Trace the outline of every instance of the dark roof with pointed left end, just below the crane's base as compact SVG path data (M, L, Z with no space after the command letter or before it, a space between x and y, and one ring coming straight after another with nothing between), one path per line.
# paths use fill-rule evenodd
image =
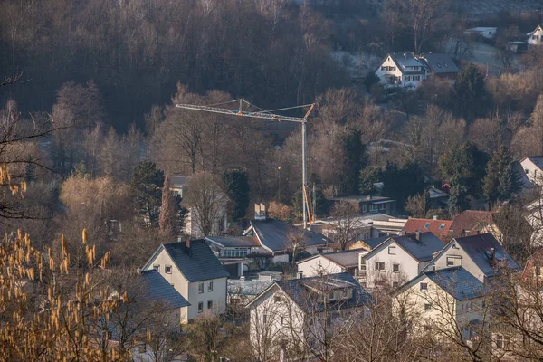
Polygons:
M294 225L275 219L251 220L252 229L262 246L272 252L281 252L292 247L291 238L302 236L303 246L317 246L332 243L320 233L302 230Z

